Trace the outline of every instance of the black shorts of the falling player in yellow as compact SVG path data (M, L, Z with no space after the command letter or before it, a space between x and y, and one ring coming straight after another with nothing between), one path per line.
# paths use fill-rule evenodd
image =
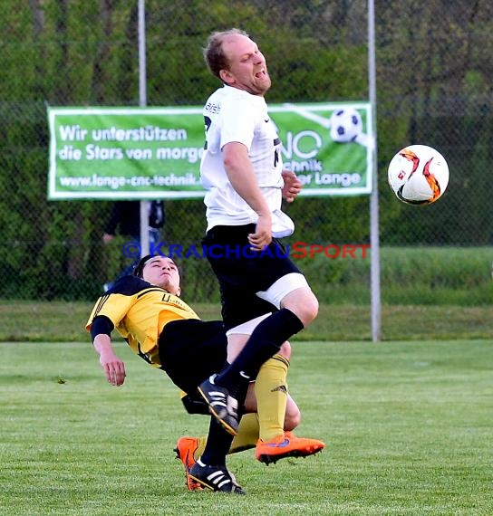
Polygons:
M173 320L160 334L161 368L190 395L198 384L221 371L227 360L227 338L220 320Z

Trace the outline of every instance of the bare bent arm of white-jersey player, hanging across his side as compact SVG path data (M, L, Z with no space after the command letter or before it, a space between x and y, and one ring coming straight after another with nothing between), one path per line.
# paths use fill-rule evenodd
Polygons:
M262 195L245 145L237 141L223 147L223 163L231 186L258 215L256 232L248 236L252 247L261 251L272 241L272 219Z

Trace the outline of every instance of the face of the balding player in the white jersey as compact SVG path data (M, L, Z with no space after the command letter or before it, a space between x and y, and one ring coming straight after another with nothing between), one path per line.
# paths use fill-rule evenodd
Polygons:
M228 70L221 70L221 79L228 86L248 91L252 95L264 95L270 88L266 58L256 43L242 34L231 34L223 41L223 51L229 63Z

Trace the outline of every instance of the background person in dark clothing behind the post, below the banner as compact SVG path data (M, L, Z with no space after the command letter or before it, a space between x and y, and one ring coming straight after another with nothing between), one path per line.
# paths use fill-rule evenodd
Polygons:
M162 201L151 201L149 208L149 244L159 244L161 239L161 229L164 226L164 205ZM140 201L116 201L111 210L110 220L104 228L102 241L109 244L116 234L128 237L129 242L140 244ZM118 274L112 281L104 283L103 290L108 291L114 282L122 276L133 272L140 256L128 267Z

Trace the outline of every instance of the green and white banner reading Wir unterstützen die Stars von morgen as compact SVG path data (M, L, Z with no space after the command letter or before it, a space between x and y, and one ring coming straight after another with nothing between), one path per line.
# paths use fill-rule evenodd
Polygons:
M369 103L269 106L303 196L369 194ZM48 108L49 199L203 197L202 107Z

